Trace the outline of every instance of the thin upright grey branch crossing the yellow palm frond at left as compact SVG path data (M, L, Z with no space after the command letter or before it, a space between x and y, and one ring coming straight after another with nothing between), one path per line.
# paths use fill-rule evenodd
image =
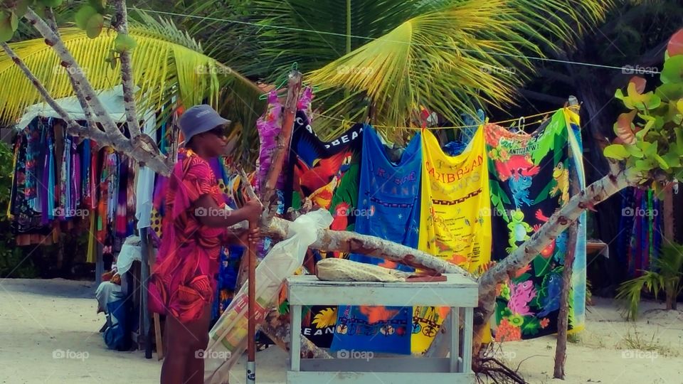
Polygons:
M126 8L125 0L116 1L116 20L118 33L128 34L128 9ZM133 81L133 67L132 67L132 53L129 49L123 50L120 53L121 59L121 84L123 85L123 105L126 110L126 122L128 123L128 131L130 137L134 139L138 137L140 132L140 123L137 119L137 111L135 108L135 84Z

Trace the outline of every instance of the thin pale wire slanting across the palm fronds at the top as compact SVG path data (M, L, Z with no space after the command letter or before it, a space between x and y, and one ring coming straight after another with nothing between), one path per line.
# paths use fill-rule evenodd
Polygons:
M130 9L134 9L136 11L150 12L153 14L164 14L164 15L169 15L169 16L182 16L182 17L189 17L189 18L201 18L202 20L211 20L211 21L225 21L226 23L243 24L243 25L247 25L247 26L258 26L259 28L284 29L287 31L318 33L320 35L329 35L329 36L341 36L341 37L350 36L352 38L360 38L360 39L369 40L369 41L375 41L378 39L378 38L371 38L369 36L346 35L345 33L315 31L314 29L294 28L294 27L287 27L287 26L272 26L272 25L265 25L265 24L258 24L258 23L250 23L249 21L230 20L228 18L215 18L215 17L210 17L210 16L197 16L197 15L179 14L176 12L155 11L153 9L139 9L137 7L134 7L134 6L130 7ZM420 43L412 43L412 42L405 42L405 41L393 41L393 40L387 40L387 42L388 43L407 44L408 46L423 46L423 47L428 47L428 48L458 49L462 52L473 52L473 53L479 52L478 50L472 50L472 49L466 49L466 48L454 48L454 47L449 47L449 46L438 46L438 45L433 45L433 44L420 44ZM561 60L561 59L554 59L554 58L539 58L536 56L514 55L512 53L500 53L500 52L494 52L494 51L484 51L484 52L489 54L489 55L508 56L511 58L524 58L524 59L528 59L528 60L550 61L550 62L554 62L554 63L563 63L563 64L584 65L586 67L613 69L613 70L620 70L622 72L624 72L625 70L630 70L632 73L637 72L638 74L649 74L649 75L660 74L660 72L656 71L656 70L645 70L642 68L630 68L628 66L616 67L614 65L583 63L581 61Z

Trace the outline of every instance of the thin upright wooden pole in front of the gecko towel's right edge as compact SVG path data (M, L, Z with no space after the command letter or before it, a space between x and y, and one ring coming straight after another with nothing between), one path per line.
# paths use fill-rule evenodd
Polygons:
M569 105L578 105L576 97L569 97ZM571 127L567 127L571 129ZM572 134L568 132L568 134ZM570 147L571 148L571 147ZM573 154L571 149L569 151L569 161L573 159L581 161L582 154ZM570 166L569 173L569 196L578 195L581 192L581 186L578 182L578 169L576 166ZM567 229L567 252L564 257L564 270L562 273L562 291L560 294L560 312L557 318L557 346L555 347L555 367L553 377L564 380L564 363L567 356L567 330L569 325L569 291L571 289L571 272L574 264L574 257L576 253L576 237L578 235L578 220Z

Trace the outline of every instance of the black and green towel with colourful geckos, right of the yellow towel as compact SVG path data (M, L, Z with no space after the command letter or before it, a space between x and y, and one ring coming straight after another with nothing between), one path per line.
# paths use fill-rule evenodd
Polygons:
M492 233L498 240L493 245L493 260L514 252L569 200L568 128L562 110L533 134L513 134L494 124L485 126ZM566 248L565 232L501 284L495 311L497 341L557 331ZM573 323L570 307L570 327Z

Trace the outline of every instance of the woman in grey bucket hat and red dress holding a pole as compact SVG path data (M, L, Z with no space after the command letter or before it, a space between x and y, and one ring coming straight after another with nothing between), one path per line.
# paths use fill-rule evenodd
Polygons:
M221 246L240 242L226 228L258 220L262 211L255 201L228 210L208 164L226 150L228 123L208 105L191 107L180 119L186 157L169 178L162 245L149 284L152 310L166 314L162 384L203 383ZM253 244L258 235L248 233L248 241Z

